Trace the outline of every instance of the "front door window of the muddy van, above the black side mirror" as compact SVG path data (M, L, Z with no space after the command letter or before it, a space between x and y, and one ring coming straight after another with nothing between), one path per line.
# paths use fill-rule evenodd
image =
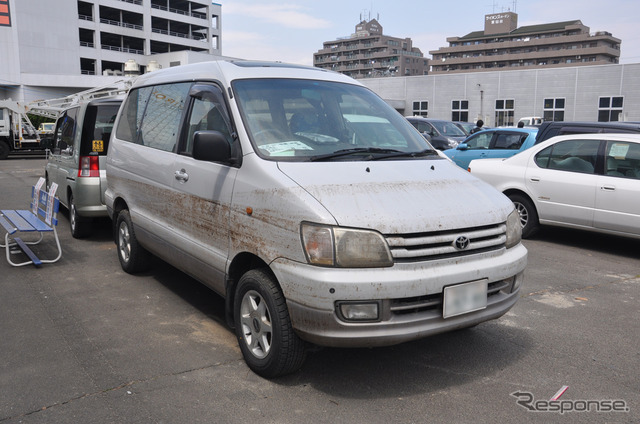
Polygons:
M193 135L198 131L218 131L231 145L233 131L224 104L220 88L211 84L196 84L191 88L191 104L188 123L188 133L180 153L193 153Z

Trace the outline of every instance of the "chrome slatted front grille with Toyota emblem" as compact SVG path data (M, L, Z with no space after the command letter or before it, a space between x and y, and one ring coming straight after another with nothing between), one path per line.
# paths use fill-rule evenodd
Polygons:
M507 226L502 224L449 231L387 234L395 262L418 262L472 255L504 248Z

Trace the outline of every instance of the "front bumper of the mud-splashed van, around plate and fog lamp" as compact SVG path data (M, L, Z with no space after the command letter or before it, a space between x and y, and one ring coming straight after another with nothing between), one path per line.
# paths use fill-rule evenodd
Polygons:
M499 318L518 299L526 257L526 249L519 244L492 254L391 268L329 269L279 260L272 269L287 299L292 325L302 339L321 346L373 347ZM444 287L479 280L488 283L486 308L444 318ZM368 301L378 304L377 320L356 322L341 317L340 302Z

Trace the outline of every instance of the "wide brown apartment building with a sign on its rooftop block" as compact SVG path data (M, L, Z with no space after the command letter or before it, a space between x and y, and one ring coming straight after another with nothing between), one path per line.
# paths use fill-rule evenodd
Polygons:
M447 42L429 52L429 73L616 64L621 43L609 32L591 33L579 20L518 27L514 12L486 15L483 31Z

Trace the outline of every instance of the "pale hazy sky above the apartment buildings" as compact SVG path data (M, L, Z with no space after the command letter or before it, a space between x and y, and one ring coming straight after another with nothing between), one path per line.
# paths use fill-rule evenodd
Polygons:
M312 65L322 43L377 19L383 33L411 38L425 57L448 37L484 30L484 16L518 14L518 27L580 20L622 40L620 63L640 63L638 0L214 0L222 4L222 54Z

